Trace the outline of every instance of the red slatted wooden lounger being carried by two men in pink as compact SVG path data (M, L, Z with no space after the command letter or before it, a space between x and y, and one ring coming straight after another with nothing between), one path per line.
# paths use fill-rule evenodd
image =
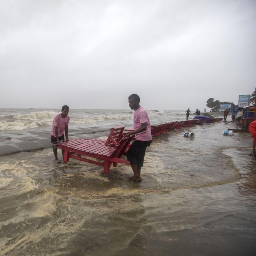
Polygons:
M109 173L109 168L118 163L130 165L129 161L120 159L124 151L130 144L132 137L128 140L121 140L124 137L124 127L114 127L110 130L107 140L100 139L73 139L58 145L58 148L64 149L64 162L69 158L89 162L104 167L104 174ZM102 160L101 162L89 158Z

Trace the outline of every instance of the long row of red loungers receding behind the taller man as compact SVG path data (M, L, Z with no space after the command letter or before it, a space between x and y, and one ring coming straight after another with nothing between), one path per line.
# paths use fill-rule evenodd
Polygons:
M179 129L182 127L191 127L196 124L202 124L204 122L203 119L193 119L188 121L175 121L166 124L159 124L156 126L151 126L151 134L152 136L158 136L160 134L170 132L171 130Z

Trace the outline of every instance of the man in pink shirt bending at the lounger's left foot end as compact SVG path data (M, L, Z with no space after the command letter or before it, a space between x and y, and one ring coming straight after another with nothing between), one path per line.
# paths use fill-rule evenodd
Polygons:
M69 112L69 107L67 105L64 105L62 107L61 113L56 114L53 118L51 142L53 146L53 153L56 160L58 160L56 145L59 145L60 143L65 141L64 132L65 132L66 141L69 141L68 140L68 122L70 120L70 117L68 116L68 112ZM61 152L62 152L62 157L64 159L64 150L62 149Z

